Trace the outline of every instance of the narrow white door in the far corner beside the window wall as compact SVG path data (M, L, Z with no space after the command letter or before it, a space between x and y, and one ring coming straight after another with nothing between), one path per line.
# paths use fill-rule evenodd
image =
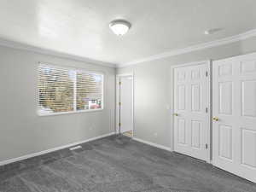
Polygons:
M119 85L119 122L120 132L133 130L133 77L120 76Z

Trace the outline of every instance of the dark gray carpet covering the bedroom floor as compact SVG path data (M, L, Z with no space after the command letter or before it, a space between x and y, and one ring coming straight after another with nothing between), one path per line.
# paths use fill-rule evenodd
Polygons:
M199 160L107 137L0 167L1 192L255 192L256 185Z

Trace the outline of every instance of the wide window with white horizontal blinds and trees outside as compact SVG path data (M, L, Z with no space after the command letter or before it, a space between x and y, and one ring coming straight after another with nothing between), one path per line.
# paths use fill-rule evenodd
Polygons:
M44 64L38 74L39 115L102 109L102 74Z

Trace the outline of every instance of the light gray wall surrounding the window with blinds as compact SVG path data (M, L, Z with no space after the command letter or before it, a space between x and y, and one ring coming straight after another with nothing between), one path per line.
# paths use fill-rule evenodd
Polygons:
M104 110L39 117L38 61L105 73ZM0 161L114 131L115 69L0 46Z

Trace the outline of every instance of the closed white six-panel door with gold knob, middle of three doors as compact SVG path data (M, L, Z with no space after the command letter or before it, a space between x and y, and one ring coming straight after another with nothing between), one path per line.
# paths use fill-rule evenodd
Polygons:
M174 150L210 160L210 62L174 68Z

